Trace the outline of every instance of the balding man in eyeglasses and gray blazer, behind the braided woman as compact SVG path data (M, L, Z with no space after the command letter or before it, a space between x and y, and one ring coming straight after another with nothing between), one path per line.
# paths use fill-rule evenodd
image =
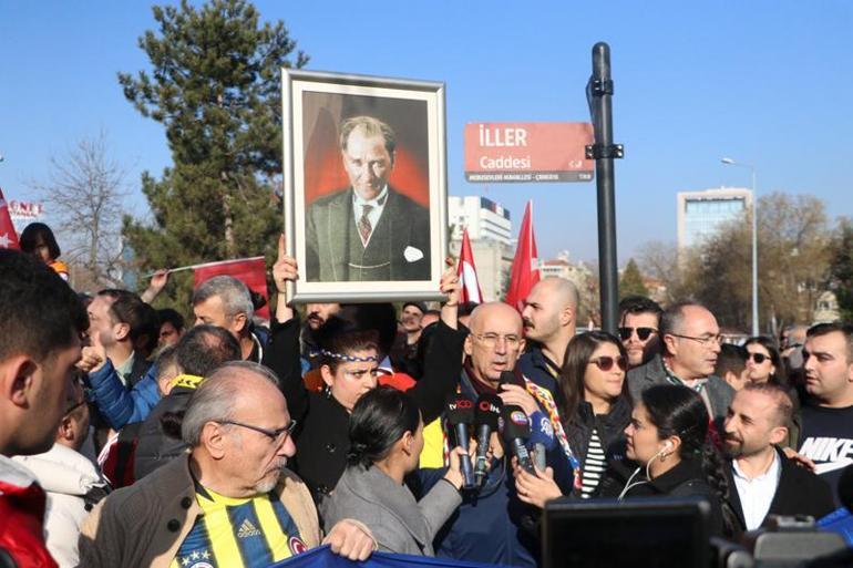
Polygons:
M717 318L697 302L669 306L660 317L662 352L648 363L628 371L628 388L637 401L643 391L655 384L682 384L697 391L708 407L719 440L722 421L734 396L734 390L713 369L722 337Z

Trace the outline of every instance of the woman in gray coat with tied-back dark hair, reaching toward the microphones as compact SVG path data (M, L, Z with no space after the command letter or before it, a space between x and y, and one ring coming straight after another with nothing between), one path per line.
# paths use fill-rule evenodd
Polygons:
M450 467L420 502L403 483L418 467L423 421L414 400L390 386L362 394L349 423L348 467L323 502L327 527L352 518L370 528L380 550L434 556L435 533L462 503L458 447Z

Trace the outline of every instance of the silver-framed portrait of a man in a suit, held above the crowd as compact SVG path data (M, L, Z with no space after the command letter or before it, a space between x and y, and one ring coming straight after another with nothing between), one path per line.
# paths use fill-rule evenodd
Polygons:
M284 69L282 105L288 296L440 299L444 84Z

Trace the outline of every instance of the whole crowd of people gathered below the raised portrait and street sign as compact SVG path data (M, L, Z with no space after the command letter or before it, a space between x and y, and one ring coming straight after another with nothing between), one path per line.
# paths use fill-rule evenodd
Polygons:
M189 326L152 307L167 270L79 293L28 230L0 250L0 566L261 567L329 544L533 567L553 499L701 496L733 541L840 506L851 324L736 345L697 302L628 297L617 334L578 332L571 281L521 312L470 304L450 259L438 309L295 306L282 237L270 321L219 276Z

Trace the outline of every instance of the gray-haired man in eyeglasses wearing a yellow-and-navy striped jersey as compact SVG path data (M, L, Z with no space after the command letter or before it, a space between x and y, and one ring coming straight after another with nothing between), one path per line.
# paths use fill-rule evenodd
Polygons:
M195 391L182 455L96 506L80 538L81 566L267 567L319 546L317 509L287 469L295 422L267 369L235 361ZM325 543L352 560L370 531L341 520Z

